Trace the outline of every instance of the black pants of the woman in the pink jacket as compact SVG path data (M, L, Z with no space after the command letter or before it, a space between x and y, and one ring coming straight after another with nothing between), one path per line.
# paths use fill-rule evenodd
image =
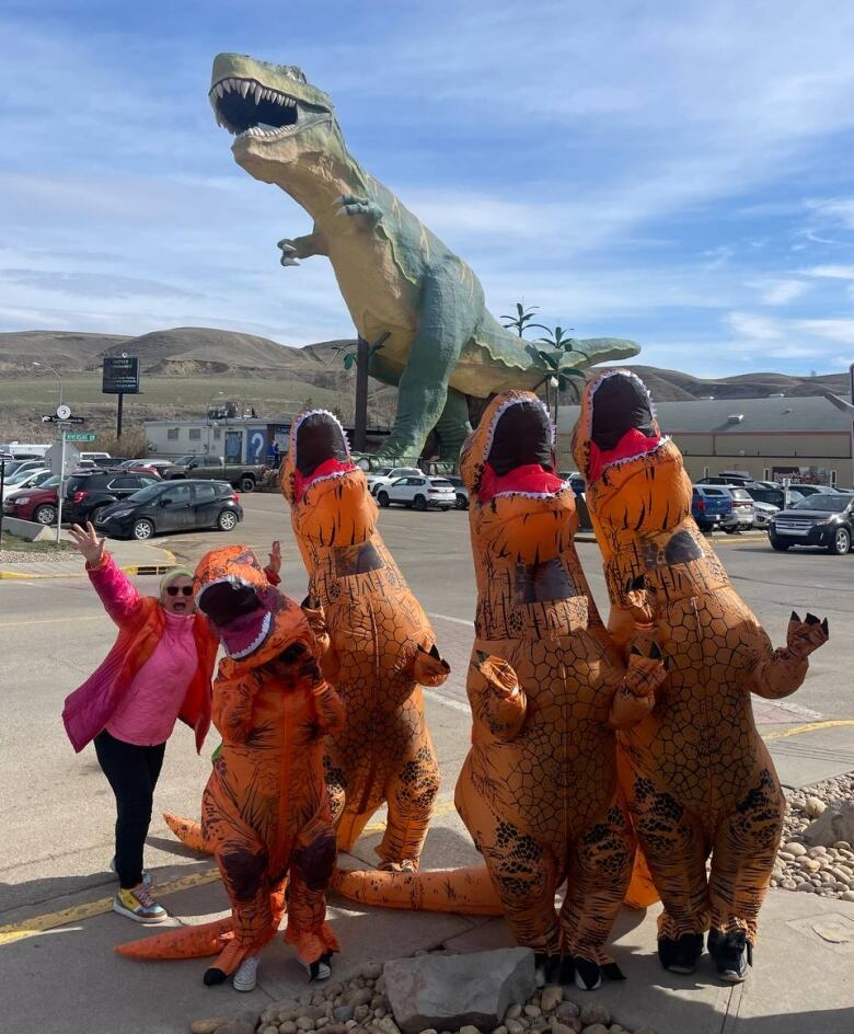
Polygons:
M95 736L99 765L116 795L116 872L124 889L142 881L142 848L165 751L164 743L137 747L106 729Z

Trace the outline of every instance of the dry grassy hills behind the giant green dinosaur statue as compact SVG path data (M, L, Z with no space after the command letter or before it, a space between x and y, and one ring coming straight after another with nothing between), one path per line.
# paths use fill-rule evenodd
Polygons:
M344 351L351 341L328 341L305 348L279 345L265 337L233 331L181 326L139 337L65 331L23 331L0 334L0 440L46 438L42 414L57 404L57 380L49 363L62 375L64 397L88 420L86 429L109 434L115 427L116 399L101 393L105 355L136 355L142 371L139 395L125 398L125 426L145 420L203 415L210 402L240 400L269 416L299 413L307 404L335 409L353 418L355 374L344 369ZM699 399L755 398L783 392L816 395L847 393L847 376L813 378L785 374L745 374L702 380L678 370L635 366L658 402ZM395 391L370 381L369 420L393 420ZM567 399L567 401L572 401Z

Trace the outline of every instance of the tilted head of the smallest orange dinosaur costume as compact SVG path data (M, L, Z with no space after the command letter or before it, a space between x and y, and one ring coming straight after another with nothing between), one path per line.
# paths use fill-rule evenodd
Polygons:
M257 667L295 642L311 644L299 607L267 582L246 545L210 550L196 566L196 606L231 660Z

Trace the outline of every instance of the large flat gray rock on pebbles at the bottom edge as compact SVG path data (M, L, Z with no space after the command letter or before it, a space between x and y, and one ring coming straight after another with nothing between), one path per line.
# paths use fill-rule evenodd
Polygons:
M403 1034L432 1027L455 1031L471 1024L492 1031L508 1006L536 990L534 956L528 947L469 955L418 955L385 963L385 993Z

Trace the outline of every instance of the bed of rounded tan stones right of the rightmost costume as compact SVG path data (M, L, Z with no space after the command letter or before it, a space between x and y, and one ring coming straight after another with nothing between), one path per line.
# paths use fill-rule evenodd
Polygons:
M772 887L854 901L854 772L786 793Z

